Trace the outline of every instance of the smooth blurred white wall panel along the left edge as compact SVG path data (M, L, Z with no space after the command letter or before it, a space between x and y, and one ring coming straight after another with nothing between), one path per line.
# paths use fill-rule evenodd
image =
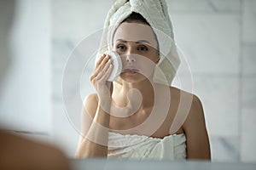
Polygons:
M14 5L6 42L9 68L1 82L0 124L13 130L50 133L51 3L19 0ZM5 5L2 8L9 10Z

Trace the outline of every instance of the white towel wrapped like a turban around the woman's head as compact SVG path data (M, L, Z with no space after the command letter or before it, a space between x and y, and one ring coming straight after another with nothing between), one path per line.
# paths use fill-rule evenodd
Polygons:
M117 0L105 20L99 54L113 50L113 33L132 12L148 21L159 42L160 61L155 66L153 81L171 86L180 59L165 0ZM116 82L121 83L119 79Z

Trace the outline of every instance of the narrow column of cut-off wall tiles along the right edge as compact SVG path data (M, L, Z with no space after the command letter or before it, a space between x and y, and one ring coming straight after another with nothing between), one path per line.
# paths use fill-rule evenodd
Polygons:
M242 1L241 161L256 161L256 1Z

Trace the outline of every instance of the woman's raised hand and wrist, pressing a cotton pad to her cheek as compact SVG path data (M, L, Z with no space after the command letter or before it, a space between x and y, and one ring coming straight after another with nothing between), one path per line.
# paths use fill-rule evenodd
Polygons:
M108 82L107 80L112 70L113 65L110 56L102 54L102 57L96 63L95 71L90 76L90 82L96 89L100 104L111 101L113 82Z

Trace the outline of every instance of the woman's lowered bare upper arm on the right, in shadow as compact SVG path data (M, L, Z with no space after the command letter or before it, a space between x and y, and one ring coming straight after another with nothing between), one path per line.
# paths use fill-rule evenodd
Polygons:
M187 138L187 158L211 160L211 150L207 134L201 100L193 95L189 116L183 123Z

